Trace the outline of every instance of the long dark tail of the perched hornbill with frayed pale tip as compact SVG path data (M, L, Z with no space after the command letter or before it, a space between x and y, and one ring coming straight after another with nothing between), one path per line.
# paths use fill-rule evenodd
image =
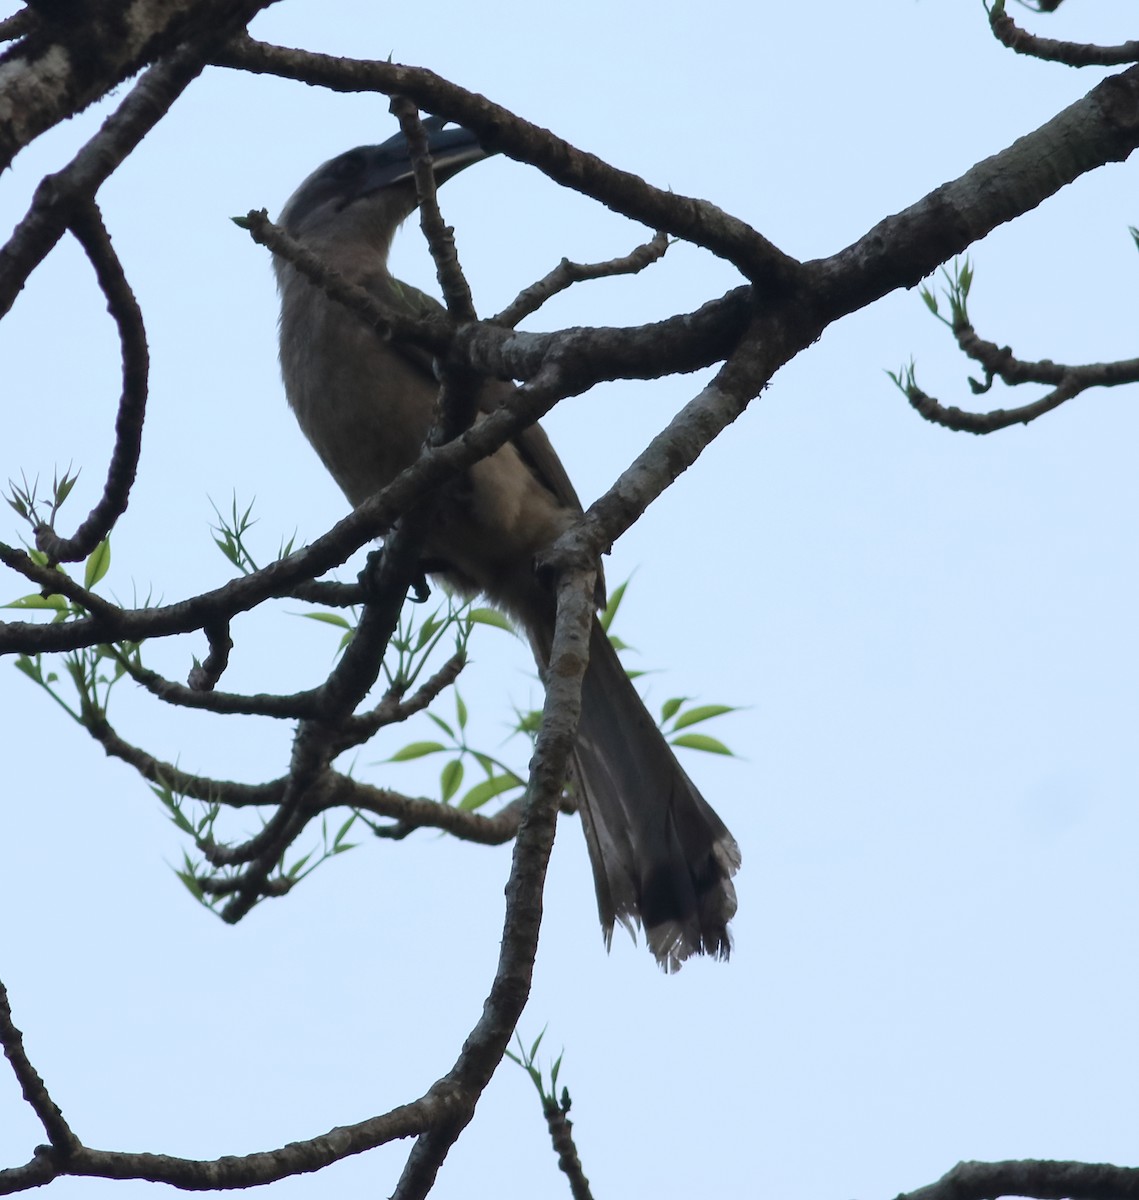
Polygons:
M739 847L681 769L594 618L574 768L606 943L640 924L665 971L726 959Z

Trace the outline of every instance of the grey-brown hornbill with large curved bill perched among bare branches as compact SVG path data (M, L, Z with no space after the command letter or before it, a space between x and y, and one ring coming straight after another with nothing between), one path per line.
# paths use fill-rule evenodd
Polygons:
M436 184L490 156L474 133L422 121ZM438 301L388 269L392 239L418 208L409 145L397 133L348 150L305 179L278 226L325 266L409 316ZM298 422L348 502L360 505L422 450L438 379L431 355L385 337L274 256L281 299L280 361ZM479 385L493 412L515 391ZM485 595L528 637L542 672L553 640L554 589L535 558L582 511L569 475L532 425L440 490L422 562L466 596ZM598 575L598 604L604 580ZM640 926L658 964L676 971L694 954L727 959L736 912L736 839L677 762L594 616L582 680L570 791L589 850L606 947L619 922Z

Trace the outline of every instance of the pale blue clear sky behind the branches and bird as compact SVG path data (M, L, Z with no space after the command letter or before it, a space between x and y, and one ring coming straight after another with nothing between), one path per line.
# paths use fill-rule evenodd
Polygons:
M1135 36L1133 0L1013 14L1049 36ZM979 2L936 0L442 0L430 18L286 0L252 31L431 67L801 258L840 250L1103 76L1015 56ZM108 593L173 601L224 582L211 502L256 499L265 559L343 515L284 403L268 254L229 217L278 211L322 161L388 137L386 103L209 71L101 192L152 355ZM19 156L0 229L109 107ZM505 160L442 203L482 313L563 254L605 259L646 236ZM996 230L971 251L981 334L1025 358L1133 355L1128 224L1123 164ZM394 268L432 286L413 226ZM675 246L528 328L636 324L737 282ZM606 955L583 840L574 820L559 829L521 1031L547 1027L544 1050L564 1048L559 1086L598 1196L869 1200L959 1159L1139 1158L1137 394L973 438L928 425L893 388L885 371L911 355L928 391L972 402L948 332L916 293L888 296L781 371L606 564L611 582L634 577L619 632L630 665L653 672L651 704L741 706L708 727L737 757L684 763L744 863L731 962L665 978L623 936ZM73 242L0 323L0 478L82 466L70 532L102 487L119 396L114 328ZM707 377L606 385L551 414L587 503ZM23 533L0 515L2 540ZM26 590L11 578L0 599ZM223 686L318 682L336 635L301 610L236 622ZM203 653L182 638L148 661L185 679ZM462 691L478 734L524 763L506 736L511 706L538 698L528 653L486 631L473 658ZM0 708L0 978L86 1144L270 1148L385 1111L450 1067L492 978L509 848L368 841L229 928L174 877L181 842L145 784L11 666ZM110 718L188 770L257 781L287 762L287 727L163 710L126 685ZM391 731L356 774L430 793L436 766L382 763L422 736ZM0 1072L0 1165L41 1140ZM386 1195L406 1153L275 1193ZM52 1184L83 1200L157 1190ZM536 1096L504 1063L433 1195L564 1194Z

